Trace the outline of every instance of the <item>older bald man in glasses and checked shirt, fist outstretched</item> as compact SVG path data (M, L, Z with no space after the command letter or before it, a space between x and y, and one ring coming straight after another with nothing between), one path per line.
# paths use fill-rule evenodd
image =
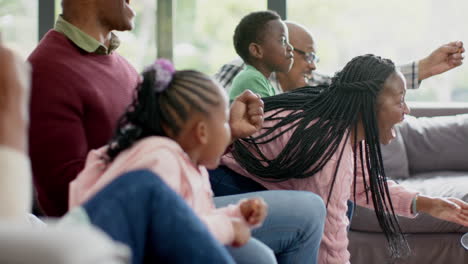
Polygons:
M289 31L289 41L294 47L294 64L287 74L273 73L270 76L273 87L278 92L285 92L308 85L329 83L330 76L316 72L319 58L310 31L295 22L285 23ZM460 66L464 51L461 41L450 42L440 46L424 59L401 65L399 70L406 77L408 89L417 89L422 80ZM215 74L215 79L228 90L243 66L240 58L235 59L223 65Z

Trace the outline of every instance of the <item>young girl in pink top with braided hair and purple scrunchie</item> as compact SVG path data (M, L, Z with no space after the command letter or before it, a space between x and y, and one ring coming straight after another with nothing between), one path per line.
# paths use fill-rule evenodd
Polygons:
M124 114L110 144L88 155L84 170L70 185L70 208L82 204L122 173L149 169L180 194L225 245L242 246L250 229L266 216L262 199L241 200L216 209L206 167L218 165L231 143L233 118L222 88L196 71L175 71L158 60L143 73L133 104ZM233 130L252 134L262 123L262 101L240 113ZM234 113L236 114L236 113ZM250 116L242 122L242 117ZM234 120L235 121L235 120ZM236 132L237 131L237 132ZM244 136L245 136L244 135ZM249 242L262 255L266 246ZM265 262L275 262L271 250Z

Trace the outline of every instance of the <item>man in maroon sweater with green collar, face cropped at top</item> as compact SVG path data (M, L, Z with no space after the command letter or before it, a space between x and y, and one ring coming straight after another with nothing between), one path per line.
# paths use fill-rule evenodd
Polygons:
M63 0L63 14L28 58L33 68L30 156L39 205L67 210L68 184L111 138L139 76L114 50L133 28L129 0Z

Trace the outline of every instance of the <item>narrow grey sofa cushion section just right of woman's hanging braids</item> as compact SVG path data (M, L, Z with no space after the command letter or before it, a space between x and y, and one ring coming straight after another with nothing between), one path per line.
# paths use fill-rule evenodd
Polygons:
M381 145L385 175L392 179L409 177L408 157L400 126L395 126L396 138L388 145Z

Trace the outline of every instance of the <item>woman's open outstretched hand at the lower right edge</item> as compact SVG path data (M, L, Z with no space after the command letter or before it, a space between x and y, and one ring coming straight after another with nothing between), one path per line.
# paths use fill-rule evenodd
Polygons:
M468 203L460 199L419 195L416 208L433 217L468 226Z

